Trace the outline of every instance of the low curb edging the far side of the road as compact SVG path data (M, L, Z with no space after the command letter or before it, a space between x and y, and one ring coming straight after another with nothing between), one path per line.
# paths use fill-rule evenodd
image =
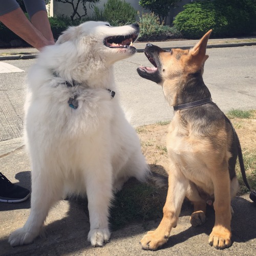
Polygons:
M170 41L171 42L171 41ZM146 42L145 42L146 44ZM154 44L154 43L153 43ZM155 42L157 45L157 42ZM210 48L225 48L225 47L241 47L241 46L256 46L256 42L236 42L236 43L230 43L230 44L216 44L216 45L207 45L207 49ZM179 48L179 49L190 49L192 48L192 45L189 46L175 46L172 48ZM161 47L164 50L169 50L170 47ZM137 48L137 52L141 53L144 52L144 48ZM17 59L34 59L36 58L37 54L17 54L17 55L6 55L6 56L0 56L0 60L17 60Z

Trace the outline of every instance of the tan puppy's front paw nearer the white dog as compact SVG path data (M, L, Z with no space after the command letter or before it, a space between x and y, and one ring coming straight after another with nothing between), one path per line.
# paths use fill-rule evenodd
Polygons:
M155 231L148 231L141 239L140 243L144 250L156 250L158 247L165 244L168 239L169 236L165 236L156 229Z

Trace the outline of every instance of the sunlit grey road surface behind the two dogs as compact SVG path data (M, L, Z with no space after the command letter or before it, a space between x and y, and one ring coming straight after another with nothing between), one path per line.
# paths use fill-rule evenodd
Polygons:
M204 81L220 108L224 112L256 109L256 46L207 49L207 54ZM25 72L0 74L0 141L22 136L25 78L34 61L4 61ZM137 74L140 65L151 66L143 53L115 64L118 93L131 123L138 126L172 119L173 110L161 87Z

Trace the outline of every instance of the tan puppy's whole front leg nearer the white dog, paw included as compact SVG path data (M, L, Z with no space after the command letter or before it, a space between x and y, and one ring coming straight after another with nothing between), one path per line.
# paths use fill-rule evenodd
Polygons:
M172 164L170 169L172 172L168 177L169 186L163 207L163 219L156 230L148 231L140 241L142 248L146 250L156 250L165 244L169 239L170 230L177 226L189 181L175 164Z

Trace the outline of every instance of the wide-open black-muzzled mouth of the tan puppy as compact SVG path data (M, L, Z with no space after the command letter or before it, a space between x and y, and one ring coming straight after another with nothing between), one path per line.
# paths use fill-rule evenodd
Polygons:
M161 62L159 60L159 53L162 51L164 50L158 46L146 44L144 53L154 67L150 68L141 66L137 68L137 72L141 77L156 83L161 82L162 78L159 72L159 70L161 69Z

